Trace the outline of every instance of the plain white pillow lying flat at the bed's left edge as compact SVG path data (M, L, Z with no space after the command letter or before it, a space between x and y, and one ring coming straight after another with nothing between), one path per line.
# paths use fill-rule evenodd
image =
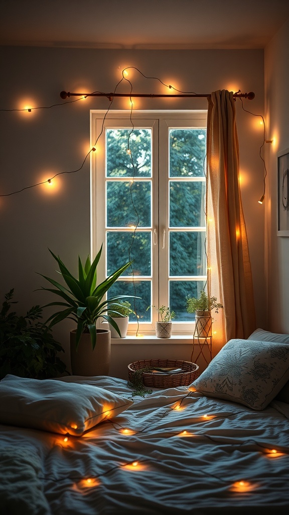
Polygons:
M133 404L97 386L8 374L0 381L0 422L81 436Z

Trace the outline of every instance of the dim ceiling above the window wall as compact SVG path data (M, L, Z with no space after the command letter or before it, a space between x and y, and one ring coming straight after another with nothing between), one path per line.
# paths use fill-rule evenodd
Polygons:
M288 17L288 0L1 0L0 44L264 48Z

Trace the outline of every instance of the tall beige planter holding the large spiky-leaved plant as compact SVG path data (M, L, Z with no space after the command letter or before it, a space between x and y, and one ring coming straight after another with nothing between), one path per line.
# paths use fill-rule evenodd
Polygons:
M70 361L73 375L108 375L111 362L111 332L97 329L96 346L92 349L91 335L81 336L76 350L76 330L70 331Z

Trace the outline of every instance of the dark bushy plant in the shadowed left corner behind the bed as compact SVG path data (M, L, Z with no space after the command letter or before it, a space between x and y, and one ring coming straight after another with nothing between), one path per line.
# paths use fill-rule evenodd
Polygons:
M33 379L47 379L67 372L65 364L57 356L64 352L53 339L51 330L39 320L42 308L31 307L25 316L10 312L14 288L5 295L0 312L0 379L6 374Z

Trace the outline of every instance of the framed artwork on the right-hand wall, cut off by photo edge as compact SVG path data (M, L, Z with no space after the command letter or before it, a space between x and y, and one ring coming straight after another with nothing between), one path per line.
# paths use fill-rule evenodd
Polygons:
M289 236L289 148L277 153L278 236Z

